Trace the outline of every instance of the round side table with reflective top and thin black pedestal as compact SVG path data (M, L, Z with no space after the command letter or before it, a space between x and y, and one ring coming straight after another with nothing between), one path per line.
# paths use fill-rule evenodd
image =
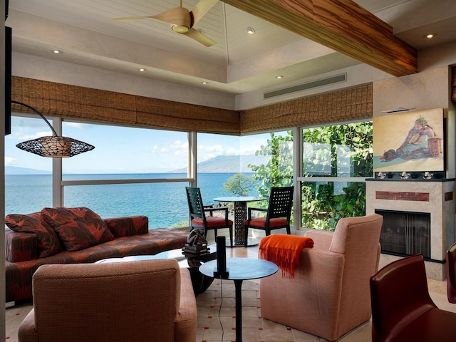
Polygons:
M199 266L204 276L214 277L217 260L208 261ZM236 342L242 342L242 281L259 279L276 273L279 267L274 262L253 258L227 259L228 277L234 281L234 296L236 301Z

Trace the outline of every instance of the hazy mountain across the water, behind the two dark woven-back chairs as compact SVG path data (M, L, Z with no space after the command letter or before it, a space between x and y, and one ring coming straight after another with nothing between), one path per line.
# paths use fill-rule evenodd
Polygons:
M252 172L248 167L249 164L261 165L266 163L264 155L219 155L204 162L198 163L198 172L203 173L234 173L234 172ZM187 169L174 170L172 172L187 172Z

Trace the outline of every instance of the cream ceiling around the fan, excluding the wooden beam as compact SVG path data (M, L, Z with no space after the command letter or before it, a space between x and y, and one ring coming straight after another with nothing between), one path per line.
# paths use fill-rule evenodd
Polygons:
M393 26L393 33L417 49L456 41L454 0L355 0ZM184 0L192 9L197 0ZM179 6L179 0L9 0L7 26L13 49L122 73L246 93L278 86L360 62L336 53L218 1L195 28L217 42L205 47L174 33L150 16ZM248 35L246 28L256 33ZM426 33L437 33L426 40ZM52 50L63 51L53 54ZM281 81L276 75L284 76ZM208 81L206 86L202 81Z

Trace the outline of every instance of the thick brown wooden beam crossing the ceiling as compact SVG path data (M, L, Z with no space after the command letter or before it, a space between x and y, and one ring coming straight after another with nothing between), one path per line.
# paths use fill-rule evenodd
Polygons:
M415 48L351 0L222 0L393 76L418 72Z

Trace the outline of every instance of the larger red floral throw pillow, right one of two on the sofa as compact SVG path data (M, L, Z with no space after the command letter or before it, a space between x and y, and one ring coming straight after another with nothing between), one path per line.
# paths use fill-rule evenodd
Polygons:
M103 219L86 207L43 208L41 214L67 251L78 251L114 239Z

